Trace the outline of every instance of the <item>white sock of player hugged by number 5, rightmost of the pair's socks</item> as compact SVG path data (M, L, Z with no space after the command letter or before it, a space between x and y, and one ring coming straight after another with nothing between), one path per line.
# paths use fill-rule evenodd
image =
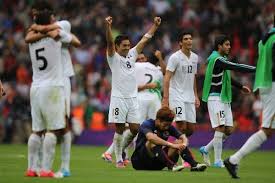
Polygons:
M72 134L68 131L61 142L61 169L70 171Z

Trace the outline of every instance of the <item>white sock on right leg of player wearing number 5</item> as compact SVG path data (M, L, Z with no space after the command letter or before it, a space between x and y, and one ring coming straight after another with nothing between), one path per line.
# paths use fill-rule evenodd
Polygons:
M50 171L53 164L56 145L56 136L53 133L47 132L43 142L43 160L42 170Z

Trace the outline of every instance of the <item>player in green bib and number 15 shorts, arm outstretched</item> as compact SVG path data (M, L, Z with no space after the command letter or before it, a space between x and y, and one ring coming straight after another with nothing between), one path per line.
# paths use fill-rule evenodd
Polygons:
M205 163L210 166L209 150L214 147L214 167L224 167L222 156L223 139L233 131L233 117L231 111L231 85L240 89L242 93L251 93L247 86L231 79L230 70L238 72L255 72L255 67L245 64L236 64L227 56L230 52L230 40L225 35L217 36L214 51L207 59L207 69L203 84L202 100L207 102L211 126L215 130L214 138L200 148Z

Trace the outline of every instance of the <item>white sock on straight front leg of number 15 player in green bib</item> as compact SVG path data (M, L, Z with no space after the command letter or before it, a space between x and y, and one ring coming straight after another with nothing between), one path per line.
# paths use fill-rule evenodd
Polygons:
M215 162L222 161L222 141L224 133L215 131L213 138Z

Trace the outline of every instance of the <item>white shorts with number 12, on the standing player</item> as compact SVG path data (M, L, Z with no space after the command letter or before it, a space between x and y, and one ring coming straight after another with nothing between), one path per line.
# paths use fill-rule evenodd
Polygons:
M175 121L186 121L196 123L196 108L195 103L169 100L170 108L175 112Z

